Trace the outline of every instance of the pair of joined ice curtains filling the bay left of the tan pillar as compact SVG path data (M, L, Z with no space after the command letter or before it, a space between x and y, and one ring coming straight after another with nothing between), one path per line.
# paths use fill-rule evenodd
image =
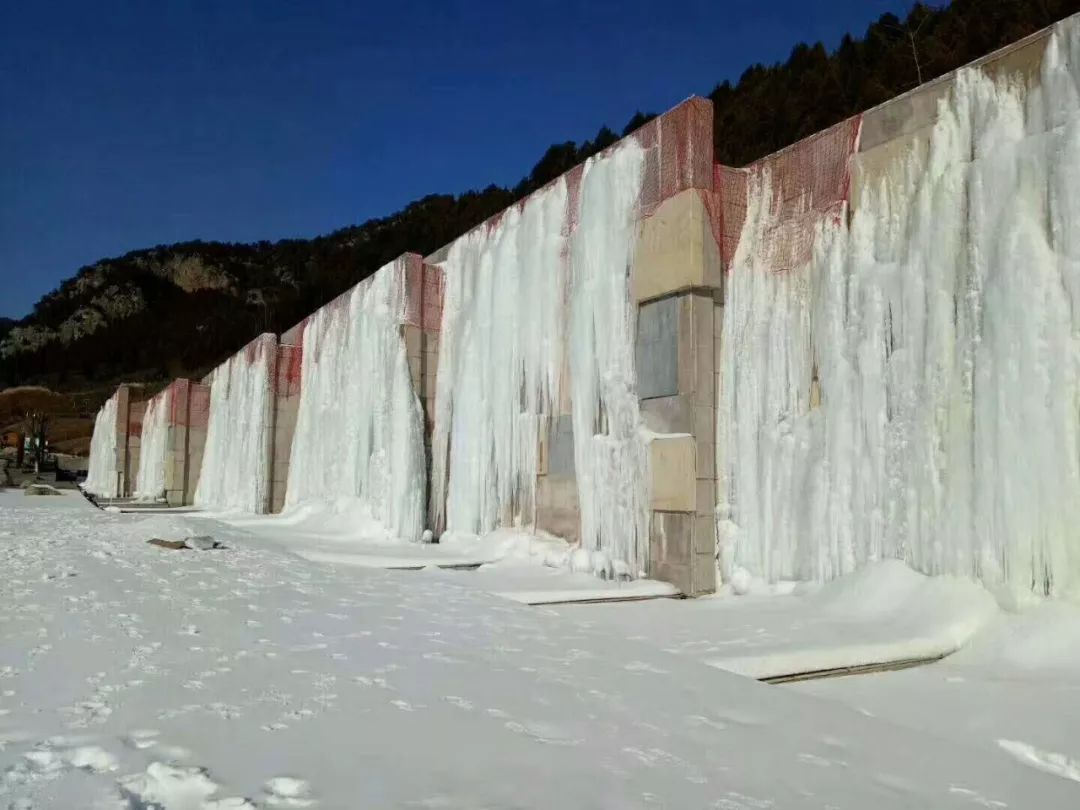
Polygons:
M561 178L450 247L432 450L448 529L535 519L541 426L569 384L582 543L644 569L629 294L643 158L625 141L585 165L577 193Z

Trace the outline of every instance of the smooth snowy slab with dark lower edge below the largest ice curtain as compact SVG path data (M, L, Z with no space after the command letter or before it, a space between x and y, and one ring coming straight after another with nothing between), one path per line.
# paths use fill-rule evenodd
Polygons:
M980 585L926 577L899 561L785 595L596 606L589 621L754 678L935 658L997 615Z

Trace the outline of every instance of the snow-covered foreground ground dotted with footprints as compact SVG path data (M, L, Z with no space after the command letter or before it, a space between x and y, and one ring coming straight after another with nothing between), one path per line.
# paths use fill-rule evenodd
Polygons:
M145 542L204 532L229 548ZM706 603L530 608L468 572L315 563L77 496L0 495L0 806L1080 806L1077 724L1056 702L1075 697L1068 667L1056 691L994 693L1035 715L998 743L899 705L867 716L870 697L766 686L595 612L638 623ZM1029 665L1028 637L1011 649Z

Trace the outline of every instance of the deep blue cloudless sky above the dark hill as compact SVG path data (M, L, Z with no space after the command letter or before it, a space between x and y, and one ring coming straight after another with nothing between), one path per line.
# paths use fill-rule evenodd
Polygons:
M902 0L6 2L0 315L98 258L512 184Z

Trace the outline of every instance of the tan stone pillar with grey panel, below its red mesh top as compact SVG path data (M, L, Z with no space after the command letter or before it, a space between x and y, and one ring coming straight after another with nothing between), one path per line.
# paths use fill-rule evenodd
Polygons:
M650 577L688 596L716 590L716 384L723 268L708 191L644 220L632 275L635 355L649 443Z

